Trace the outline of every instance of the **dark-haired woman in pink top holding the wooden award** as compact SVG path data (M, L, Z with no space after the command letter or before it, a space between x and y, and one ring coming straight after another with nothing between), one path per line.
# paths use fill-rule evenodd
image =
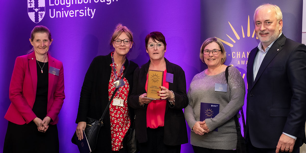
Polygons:
M188 142L182 109L188 105L186 80L183 69L164 58L165 37L161 32L151 32L145 38L150 60L134 72L134 86L129 105L135 109L135 130L142 152L180 152L181 144ZM151 85L152 80L162 85ZM162 74L162 76L160 76ZM162 78L162 79L161 79ZM147 99L155 91L159 100ZM150 91L149 91L150 90ZM151 96L148 96L151 97ZM154 99L154 98L153 98ZM156 98L155 98L156 99Z

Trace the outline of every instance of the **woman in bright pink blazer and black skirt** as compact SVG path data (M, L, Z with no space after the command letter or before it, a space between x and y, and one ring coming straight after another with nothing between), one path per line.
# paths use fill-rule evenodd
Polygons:
M11 104L3 152L59 152L58 113L64 94L62 62L48 54L53 41L45 26L35 26L30 54L16 58L9 85Z

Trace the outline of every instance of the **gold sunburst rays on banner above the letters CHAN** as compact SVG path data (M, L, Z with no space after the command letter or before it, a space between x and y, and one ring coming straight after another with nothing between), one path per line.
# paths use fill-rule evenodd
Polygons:
M228 21L228 22L229 22L229 24L230 24L230 21ZM237 40L240 40L240 36L239 36L238 33L236 32L236 30L235 30L235 28L232 26L232 24L230 24L230 27L232 28L232 31L233 31L235 37L237 38ZM241 25L241 31L242 31L242 37L244 38L245 35L244 35L244 30L243 30L243 26L242 26L242 25ZM248 16L247 37L250 37L250 36L251 36L250 34L251 34L251 33L250 33L250 16ZM227 35L227 34L226 34L226 35ZM254 38L254 36L255 36L255 29L254 29L254 31L253 31L252 38ZM236 41L235 41L232 37L230 37L229 35L227 35L227 37L229 37L230 40L232 40L233 43L236 43ZM231 44L231 43L229 43L229 42L227 42L227 41L225 41L225 40L222 40L222 39L220 39L220 38L218 38L218 37L215 37L215 38L219 39L222 43L225 43L226 45L228 45L228 46L230 46L230 47L233 47L233 46L234 46L233 44ZM256 36L256 39L258 39L257 36Z

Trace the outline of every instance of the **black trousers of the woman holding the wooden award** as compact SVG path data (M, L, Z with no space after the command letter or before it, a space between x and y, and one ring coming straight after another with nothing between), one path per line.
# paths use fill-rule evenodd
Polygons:
M148 141L139 143L140 153L179 153L181 145L169 146L164 144L164 127L147 128Z

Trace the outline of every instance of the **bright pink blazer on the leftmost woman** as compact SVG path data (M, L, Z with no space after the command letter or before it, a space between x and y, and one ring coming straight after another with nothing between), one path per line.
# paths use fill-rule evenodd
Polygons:
M50 66L60 69L59 76L49 73L47 116L58 123L58 113L62 108L64 93L64 70L62 62L48 54ZM48 73L48 72L44 72ZM32 111L37 88L37 68L35 53L16 58L11 83L9 84L9 99L11 104L4 118L18 125L28 124L36 115Z

